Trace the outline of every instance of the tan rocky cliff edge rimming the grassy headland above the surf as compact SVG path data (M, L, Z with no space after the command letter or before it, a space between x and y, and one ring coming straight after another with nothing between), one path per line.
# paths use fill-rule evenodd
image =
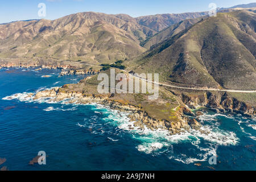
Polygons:
M11 67L11 68L14 68L14 67ZM22 67L18 67L18 68L22 68ZM33 67L33 68L36 68L36 67ZM49 69L49 68L46 68L46 69ZM56 69L59 69L59 68L56 68ZM90 77L86 77L84 80L88 80L89 78ZM80 82L84 80L80 80ZM56 102L63 101L66 99L71 99L69 101L69 104L74 104L76 102L78 102L79 104L90 104L90 103L96 102L98 104L109 106L110 109L130 112L129 114L130 120L135 121L134 126L131 126L131 127L139 127L140 129L144 129L144 126L146 126L148 127L148 129L151 129L151 130L164 129L169 131L170 134L180 133L181 130L183 129L187 131L191 129L200 130L201 124L196 120L201 114L203 114L202 110L200 110L200 107L205 107L209 110L214 111L214 113L242 114L245 117L254 118L254 115L242 113L240 110L237 111L237 110L228 110L226 108L224 109L224 107L222 107L222 105L220 104L217 104L217 107L212 107L212 105L216 103L212 103L212 100L210 99L205 101L204 104L206 105L203 105L203 103L192 102L193 100L192 98L189 98L188 100L188 98L185 97L185 100L187 101L182 100L185 106L177 106L175 110L175 117L177 118L177 121L170 122L170 121L167 121L166 119L155 119L154 117L151 117L146 111L144 111L142 107L134 106L131 104L124 104L123 103L124 100L123 101L111 100L111 97L112 97L111 94L97 95L97 94L76 92L74 90L71 90L71 91L63 90L63 88L66 88L67 85L63 85L57 88L55 87L55 88L50 88L46 90L40 90L39 92L36 92L35 94L32 94L28 97L32 97L33 100L36 100L38 98L51 98L51 100ZM215 97L212 97L212 98L215 98ZM229 98L225 98L225 99L229 101ZM196 114L194 114L191 111L193 110L191 109L191 106L195 106Z

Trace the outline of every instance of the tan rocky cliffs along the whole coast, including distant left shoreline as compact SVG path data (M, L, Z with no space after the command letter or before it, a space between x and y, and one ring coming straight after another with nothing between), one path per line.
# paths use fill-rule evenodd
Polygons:
M1 63L1 61L0 61ZM38 68L37 70L48 68L48 69L61 69L60 76L64 75L84 75L90 74L95 75L100 71L95 71L93 69L83 69L73 67L71 65L56 65L56 64L0 64L0 68ZM85 80L89 79L89 77L85 78ZM62 87L65 88L65 85ZM175 93L174 93L175 94ZM194 114L191 109L197 109L199 107L207 107L210 110L215 111L216 113L237 113L242 114L246 117L255 118L255 108L247 105L245 102L238 101L236 98L232 98L228 96L227 93L222 95L213 94L211 92L206 92L202 95L198 96L188 96L188 94L176 94L176 96L180 97L181 101L184 103L183 106L177 107L175 111L175 121L170 121L167 119L155 119L151 117L146 111L144 111L141 107L134 106L131 104L124 104L123 102L118 102L112 100L111 94L88 94L84 92L77 92L72 90L64 90L61 88L53 88L49 90L42 90L38 93L30 94L28 97L36 100L39 98L48 98L51 97L53 101L63 101L69 98L69 103L77 103L77 104L90 104L90 103L98 103L105 106L109 106L110 109L125 111L130 113L129 119L131 121L131 125L129 125L130 129L137 127L141 130L144 127L147 127L151 130L163 129L170 131L170 134L177 134L182 131L189 131L191 129L200 130L200 123L196 120L196 117L202 115L201 111L197 111ZM133 123L132 123L133 121ZM202 131L205 132L205 131Z

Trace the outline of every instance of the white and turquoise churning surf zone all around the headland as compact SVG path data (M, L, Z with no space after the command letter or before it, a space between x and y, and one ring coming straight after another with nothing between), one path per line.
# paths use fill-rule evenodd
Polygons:
M43 89L43 88L42 88ZM69 100L63 100L60 102L52 101L51 98L39 98L38 100L33 100L35 93L17 93L11 96L6 96L2 98L3 100L19 100L22 102L47 102L49 104L59 103L59 104L69 104ZM47 107L45 111L53 110L76 110L77 106L80 104L69 104L72 107L64 109L61 107ZM177 162L190 164L195 162L204 162L208 159L209 155L216 153L216 146L230 146L237 145L240 139L237 137L236 133L233 131L222 130L219 128L221 125L218 122L218 117L225 117L228 119L234 119L234 117L227 116L225 114L203 114L200 115L199 121L203 124L201 130L190 130L183 131L182 133L170 135L166 130L150 130L144 127L143 130L138 127L134 127L128 115L129 113L121 112L118 110L112 110L107 106L100 104L90 104L94 107L94 113L90 118L85 118L84 123L77 123L77 126L84 127L88 129L92 134L97 135L108 135L108 139L116 142L120 140L120 135L122 133L129 133L131 138L138 142L134 146L139 152L144 152L150 155L160 155L166 154L169 159L175 160ZM104 123L98 122L97 114L104 115ZM240 125L238 122L238 124ZM108 126L106 129L106 126ZM111 127L109 127L111 126ZM247 125L255 130L255 125ZM251 139L255 140L253 135L249 136ZM179 143L187 143L188 147L183 148L177 152L176 147ZM189 151L190 150L190 151ZM193 151L193 152L191 152Z

